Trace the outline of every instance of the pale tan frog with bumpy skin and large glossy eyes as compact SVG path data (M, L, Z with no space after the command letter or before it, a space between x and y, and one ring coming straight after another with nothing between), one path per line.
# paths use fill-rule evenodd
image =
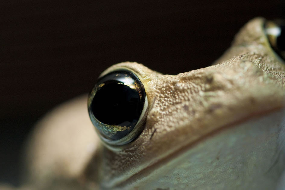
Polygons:
M254 18L211 66L177 75L136 62L107 68L89 95L36 124L20 188L283 189L280 31ZM130 93L135 103L112 107Z

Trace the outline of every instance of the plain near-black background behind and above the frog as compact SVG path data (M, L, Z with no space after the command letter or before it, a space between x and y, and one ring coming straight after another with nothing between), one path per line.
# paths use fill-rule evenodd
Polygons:
M34 122L87 93L115 63L165 74L209 66L249 19L285 18L284 1L0 2L0 181L19 184Z

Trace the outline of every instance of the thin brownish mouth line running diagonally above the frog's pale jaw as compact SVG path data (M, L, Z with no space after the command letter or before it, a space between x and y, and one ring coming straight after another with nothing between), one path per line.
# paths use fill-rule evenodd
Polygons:
M154 170L159 169L161 166L165 165L170 160L175 159L177 157L177 155L181 155L181 154L185 153L187 150L197 146L202 141L205 141L206 139L211 138L214 135L217 135L218 133L220 133L221 131L223 131L225 129L234 128L234 127L239 126L240 124L248 122L252 119L255 120L255 119L259 119L259 118L264 117L264 116L268 116L268 115L270 115L274 112L277 112L281 109L284 109L284 108L285 108L285 106L278 106L278 107L272 108L270 110L266 110L266 111L262 111L262 112L255 112L255 113L252 113L252 114L250 114L244 118L241 118L241 119L233 121L229 124L223 125L217 129L201 136L201 138L198 138L195 141L192 141L191 143L186 144L185 146L179 148L178 150L175 150L174 152L172 152L169 155L161 158L160 160L157 160L157 162L155 162L155 163L147 166L146 168L138 171L137 173L130 176L129 178L124 179L123 182L108 183L108 186L109 187L116 186L118 188L123 188L123 187L125 187L125 185L132 184L133 182L136 182L139 179L141 180L141 179L145 178L146 176L151 174Z

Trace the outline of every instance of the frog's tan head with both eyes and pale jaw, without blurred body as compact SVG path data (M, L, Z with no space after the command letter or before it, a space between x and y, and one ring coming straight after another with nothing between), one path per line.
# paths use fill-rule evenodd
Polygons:
M111 189L276 185L285 166L278 32L256 18L214 65L175 76L131 62L108 68L88 99L103 142L88 171Z

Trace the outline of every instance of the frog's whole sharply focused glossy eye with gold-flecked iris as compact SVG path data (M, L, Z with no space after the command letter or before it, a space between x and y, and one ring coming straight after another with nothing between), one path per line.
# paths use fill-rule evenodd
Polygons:
M116 70L98 79L88 98L90 119L101 139L122 145L144 129L147 112L144 85L128 70Z

